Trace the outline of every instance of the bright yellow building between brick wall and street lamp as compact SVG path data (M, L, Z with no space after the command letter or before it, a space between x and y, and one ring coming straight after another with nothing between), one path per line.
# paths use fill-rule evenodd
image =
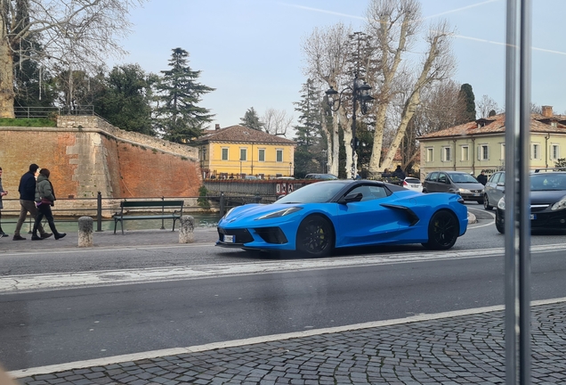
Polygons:
M216 125L198 143L204 177L293 176L295 142L284 137L243 126Z

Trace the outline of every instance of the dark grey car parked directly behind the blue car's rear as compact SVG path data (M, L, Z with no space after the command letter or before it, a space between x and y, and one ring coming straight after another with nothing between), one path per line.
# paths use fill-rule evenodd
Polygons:
M462 171L433 171L423 182L423 193L457 193L464 201L483 203L483 184Z

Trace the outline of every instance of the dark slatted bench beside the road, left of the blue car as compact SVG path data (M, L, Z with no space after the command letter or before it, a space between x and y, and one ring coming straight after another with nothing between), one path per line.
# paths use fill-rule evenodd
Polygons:
M182 216L182 207L184 201L121 201L120 212L112 217L114 218L114 233L116 233L117 223L120 222L122 234L124 234L125 220L141 220L141 219L173 219L173 230L175 230L175 222ZM161 208L160 214L151 215L135 215L130 212L131 209L148 211L149 209ZM173 212L166 212L165 209L174 209ZM162 227L163 228L163 227Z

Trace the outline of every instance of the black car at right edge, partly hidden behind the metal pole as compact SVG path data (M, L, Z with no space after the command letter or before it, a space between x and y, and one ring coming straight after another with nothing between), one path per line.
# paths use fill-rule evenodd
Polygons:
M497 203L496 227L505 233L505 195ZM566 172L530 175L530 228L566 230Z

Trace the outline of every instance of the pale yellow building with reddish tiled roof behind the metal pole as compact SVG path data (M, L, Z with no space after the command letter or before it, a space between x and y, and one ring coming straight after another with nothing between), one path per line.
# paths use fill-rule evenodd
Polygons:
M530 117L530 168L552 168L566 158L566 116L551 106ZM457 170L477 176L505 169L505 114L450 127L418 138L421 179L436 170Z

